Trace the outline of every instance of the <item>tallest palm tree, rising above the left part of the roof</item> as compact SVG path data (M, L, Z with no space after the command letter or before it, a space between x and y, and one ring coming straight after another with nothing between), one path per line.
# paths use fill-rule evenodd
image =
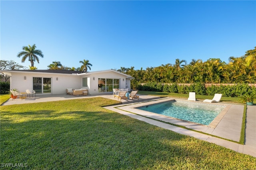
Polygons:
M37 61L39 63L39 58L38 55L40 57L44 57L42 51L40 49L36 49L36 44L30 46L23 46L22 49L24 51L20 51L17 55L17 57L21 57L21 62L24 63L26 61L26 59L28 58L28 61L31 62L31 67L34 67L34 61Z

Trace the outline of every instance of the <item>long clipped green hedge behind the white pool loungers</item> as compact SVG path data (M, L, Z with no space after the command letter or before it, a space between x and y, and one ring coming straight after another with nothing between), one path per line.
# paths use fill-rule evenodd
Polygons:
M188 94L189 92L196 92L198 95L210 95L213 96L215 93L221 93L223 97L239 97L241 95L254 93L256 94L256 87L250 87L248 84L238 85L212 85L204 87L204 84L195 83L189 85L172 85L161 83L147 83L144 85L138 85L138 90L143 91L162 91L168 93L182 93Z

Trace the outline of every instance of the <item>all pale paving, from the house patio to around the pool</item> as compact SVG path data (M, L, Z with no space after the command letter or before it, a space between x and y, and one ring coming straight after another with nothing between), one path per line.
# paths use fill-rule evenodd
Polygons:
M210 143L217 144L219 146L223 146L225 148L229 148L236 152L240 152L243 154L248 154L256 157L256 105L247 106L247 114L246 114L246 129L245 129L245 144L238 144L233 141L240 140L240 132L242 127L242 116L244 111L244 105L236 105L230 103L214 103L216 105L226 105L227 107L214 119L214 121L209 125L199 125L191 122L181 121L179 119L172 119L170 117L161 116L154 113L149 113L146 111L142 111L136 109L135 107L148 105L152 103L158 103L162 101L173 100L173 98L162 98L150 95L139 95L140 99L136 100L122 100L120 105L105 107L106 109L115 111L117 113L127 115L134 119L138 119L140 121L144 121L150 123L152 125L166 128L168 130L172 130L174 132L185 134L188 136L192 136L198 138L200 140L204 140ZM88 95L88 96L77 96L74 97L72 95L37 95L33 98L26 99L9 99L3 105L15 105L15 104L26 104L26 103L38 103L38 102L48 102L48 101L60 101L60 100L69 100L69 99L86 99L90 97L104 97L107 99L118 100L114 98L112 94L105 95ZM178 99L182 100L182 99ZM183 99L184 100L184 99ZM184 100L187 101L187 100ZM202 102L202 101L196 101ZM136 113L136 114L134 114ZM155 119L155 120L154 120ZM157 121L160 120L160 121ZM164 122L167 123L164 123ZM193 130L177 127L174 125L170 125L168 123L172 123L175 125L181 125L186 128L190 128ZM201 133L203 132L203 133ZM213 135L213 136L212 136ZM214 137L214 136L219 136ZM225 139L229 140L225 140Z

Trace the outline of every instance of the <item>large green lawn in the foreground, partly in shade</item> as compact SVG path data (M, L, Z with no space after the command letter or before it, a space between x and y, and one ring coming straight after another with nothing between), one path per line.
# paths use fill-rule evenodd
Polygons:
M252 156L102 108L118 103L96 97L1 106L0 163L27 163L28 169L256 167Z

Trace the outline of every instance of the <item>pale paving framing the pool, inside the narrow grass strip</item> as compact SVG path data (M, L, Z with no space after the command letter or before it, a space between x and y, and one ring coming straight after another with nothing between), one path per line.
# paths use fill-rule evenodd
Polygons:
M218 114L218 116L208 126L136 109L137 107L143 107L146 105L152 105L152 104L157 104L157 103L162 103L162 102L172 101L172 100L188 101L186 99L174 99L174 98L166 97L166 98L151 100L147 102L121 105L115 108L120 109L122 111L130 112L136 115L140 115L143 117L147 117L150 119L154 119L154 120L170 123L173 125L186 127L188 129L196 130L198 132L203 132L206 134L218 136L218 137L232 140L235 142L240 141L244 105L236 105L236 104L228 104L228 103L210 103L212 105L225 105L226 107ZM189 101L189 102L204 103L202 101ZM240 107L240 109L237 109L236 107ZM234 119L232 116L234 111L238 113L238 115L236 115L238 116L238 119L232 120ZM228 122L227 122L227 119L228 119Z

